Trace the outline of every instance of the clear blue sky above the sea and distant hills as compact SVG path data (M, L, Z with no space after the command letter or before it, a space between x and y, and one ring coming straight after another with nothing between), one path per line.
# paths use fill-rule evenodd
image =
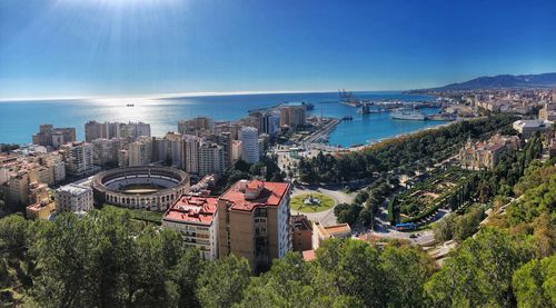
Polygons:
M394 90L549 71L554 0L0 1L0 98Z

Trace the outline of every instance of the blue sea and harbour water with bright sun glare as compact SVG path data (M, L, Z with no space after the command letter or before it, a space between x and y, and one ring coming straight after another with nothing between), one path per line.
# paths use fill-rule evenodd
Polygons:
M430 100L427 96L400 92L357 92L360 99L398 99L404 101ZM271 107L282 101L315 103L315 115L328 117L354 116L353 121L340 123L330 135L331 145L365 143L404 132L436 126L436 121L390 120L388 113L358 115L356 108L337 103L338 93L275 93L212 97L183 97L171 99L98 99L0 102L0 142L27 143L41 123L54 127L75 127L78 139L85 139L83 125L97 121L143 121L151 125L153 136L177 130L180 119L209 116L215 120L237 120L247 110ZM136 107L126 107L135 102ZM426 110L428 113L437 110Z

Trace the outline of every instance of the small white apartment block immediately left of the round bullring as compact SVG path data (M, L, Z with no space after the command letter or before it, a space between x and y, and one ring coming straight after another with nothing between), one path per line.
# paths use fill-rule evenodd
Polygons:
M80 212L92 209L92 189L78 185L67 185L54 191L58 211Z

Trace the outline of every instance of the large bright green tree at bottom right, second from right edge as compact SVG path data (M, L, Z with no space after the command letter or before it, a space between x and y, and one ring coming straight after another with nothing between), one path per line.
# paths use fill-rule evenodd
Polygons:
M535 252L530 237L483 230L457 248L425 290L435 306L512 306L512 275Z

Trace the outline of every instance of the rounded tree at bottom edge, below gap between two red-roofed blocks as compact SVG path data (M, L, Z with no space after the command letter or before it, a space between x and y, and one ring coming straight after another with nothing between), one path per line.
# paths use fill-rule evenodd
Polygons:
M241 301L249 285L247 259L229 256L208 262L199 277L197 297L202 307L231 307Z

